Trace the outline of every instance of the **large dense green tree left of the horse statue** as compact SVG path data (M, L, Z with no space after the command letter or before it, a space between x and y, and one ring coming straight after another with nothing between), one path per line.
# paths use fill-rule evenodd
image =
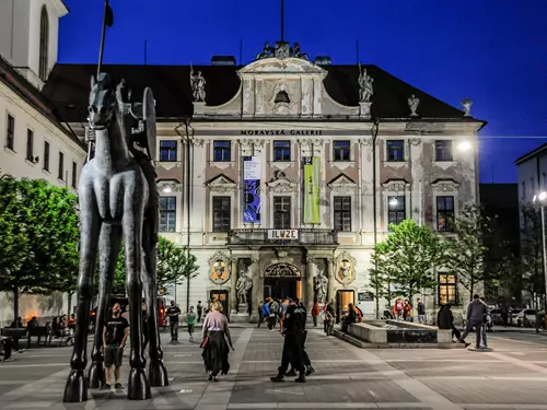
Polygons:
M0 178L0 291L48 294L78 270L77 197L43 179Z

